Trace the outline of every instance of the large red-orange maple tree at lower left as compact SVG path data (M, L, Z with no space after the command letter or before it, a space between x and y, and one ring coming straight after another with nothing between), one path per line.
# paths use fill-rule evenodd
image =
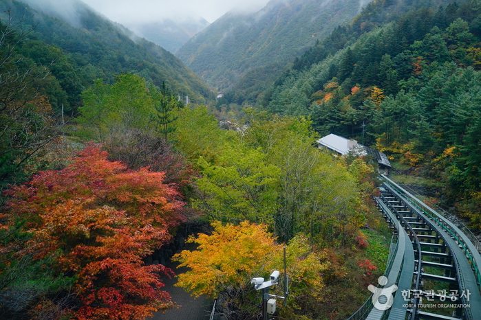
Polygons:
M13 261L53 258L54 272L74 279L69 311L75 319L143 319L171 306L159 276L172 271L142 258L182 220L180 194L162 183L163 172L127 170L97 146L72 160L7 192L0 226L6 234L21 226L27 236L4 245L3 253Z

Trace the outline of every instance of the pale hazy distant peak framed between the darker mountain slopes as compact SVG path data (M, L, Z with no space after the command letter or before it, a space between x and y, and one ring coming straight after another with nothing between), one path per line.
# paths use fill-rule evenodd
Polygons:
M198 21L173 21L170 19L158 22L129 23L126 25L138 36L175 53L195 34L209 26L205 19Z

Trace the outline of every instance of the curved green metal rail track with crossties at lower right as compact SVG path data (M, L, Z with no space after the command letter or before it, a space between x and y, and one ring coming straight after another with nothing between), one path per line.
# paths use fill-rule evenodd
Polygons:
M387 284L378 290L393 284L398 288L387 310L385 297L376 308L371 296L348 320L481 319L478 239L455 217L434 211L387 176L383 181L376 203L394 236ZM451 308L440 306L444 304Z

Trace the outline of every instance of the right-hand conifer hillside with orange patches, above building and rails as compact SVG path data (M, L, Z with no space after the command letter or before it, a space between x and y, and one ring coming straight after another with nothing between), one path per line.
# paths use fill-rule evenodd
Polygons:
M444 182L446 204L480 227L478 1L376 21L370 12L385 6L368 5L297 58L260 104L311 117L321 135L359 140L365 125L365 144Z

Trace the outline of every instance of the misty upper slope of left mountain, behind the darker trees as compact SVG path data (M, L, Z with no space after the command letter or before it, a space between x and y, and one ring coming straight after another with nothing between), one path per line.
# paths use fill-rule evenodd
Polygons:
M125 72L139 74L157 86L166 82L175 93L189 95L194 102L206 102L211 97L204 82L173 54L141 38L137 43L132 41L120 27L81 1L70 2L75 19L67 21L63 20L65 16L44 14L19 1L0 1L4 20L7 16L13 21L23 18L25 28L36 26L28 34L30 43L17 48L23 56L36 65L62 60L54 65L52 75L68 95L68 101L62 102L65 110L78 106L79 93L93 80L103 78L112 83L116 74Z

